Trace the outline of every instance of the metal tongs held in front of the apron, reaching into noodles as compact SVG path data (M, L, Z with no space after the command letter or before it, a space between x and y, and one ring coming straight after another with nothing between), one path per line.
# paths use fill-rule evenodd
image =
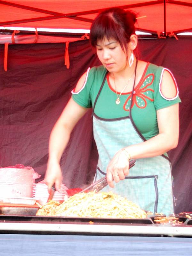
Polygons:
M129 161L129 169L132 168L135 165L135 159L131 159ZM108 185L107 177L103 177L100 180L97 180L96 182L92 183L90 186L84 188L81 192L83 193L85 191L94 191L95 193L99 192L101 189L105 188Z

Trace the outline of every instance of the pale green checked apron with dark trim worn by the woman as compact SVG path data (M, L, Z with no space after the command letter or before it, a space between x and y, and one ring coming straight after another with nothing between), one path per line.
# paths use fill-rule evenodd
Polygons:
M93 106L93 134L99 153L94 181L106 175L107 166L119 149L145 140L133 123L131 113L131 118L116 119L100 118L94 113L105 79L106 76ZM107 186L102 191L113 191L146 211L166 215L174 211L171 164L166 156L137 159L129 175L114 184L114 188Z

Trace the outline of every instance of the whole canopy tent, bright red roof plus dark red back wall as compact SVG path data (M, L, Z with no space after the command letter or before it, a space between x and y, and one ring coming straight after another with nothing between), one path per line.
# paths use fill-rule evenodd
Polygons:
M169 156L176 212L192 211L191 36L178 35L192 31L190 0L0 1L0 166L29 165L43 179L51 129L79 76L88 67L100 65L84 32L38 29L89 29L101 9L113 6L138 13L137 31L150 33L139 36L140 59L170 68L176 77L182 100L180 141ZM77 124L61 159L69 188L82 186L94 175L97 150L90 114Z

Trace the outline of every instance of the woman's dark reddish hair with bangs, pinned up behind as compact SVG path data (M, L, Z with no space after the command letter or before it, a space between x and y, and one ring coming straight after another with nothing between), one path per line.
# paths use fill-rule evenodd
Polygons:
M92 23L89 40L93 47L96 47L98 40L106 37L115 39L121 48L127 52L127 43L130 36L135 34L136 14L132 11L125 11L119 7L113 7L100 12Z

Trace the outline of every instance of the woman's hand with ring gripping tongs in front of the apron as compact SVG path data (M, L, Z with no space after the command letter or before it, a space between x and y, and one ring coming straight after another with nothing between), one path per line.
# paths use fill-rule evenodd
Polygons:
M108 164L107 181L111 188L114 187L113 180L119 182L129 174L129 158L127 154L123 149L120 149Z

